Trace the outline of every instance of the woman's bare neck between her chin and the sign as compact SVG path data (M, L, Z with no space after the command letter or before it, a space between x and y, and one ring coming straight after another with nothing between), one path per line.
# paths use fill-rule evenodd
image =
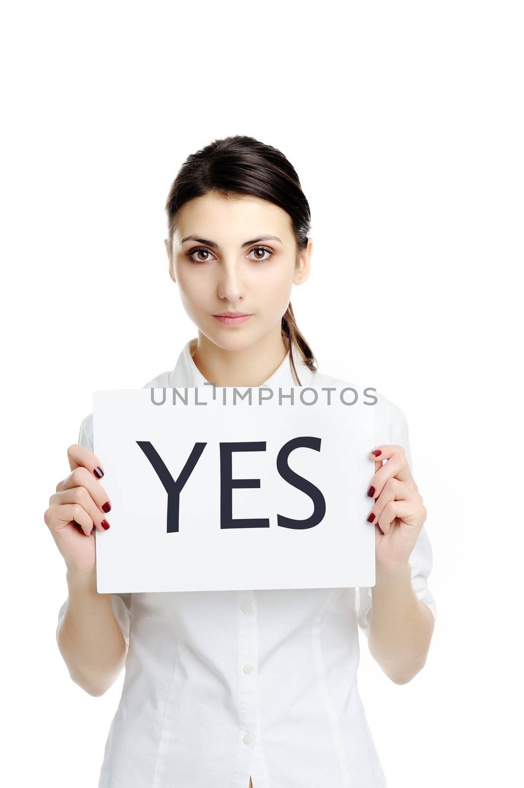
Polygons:
M197 369L216 386L260 386L286 358L280 325L238 350L220 348L199 331L190 350Z

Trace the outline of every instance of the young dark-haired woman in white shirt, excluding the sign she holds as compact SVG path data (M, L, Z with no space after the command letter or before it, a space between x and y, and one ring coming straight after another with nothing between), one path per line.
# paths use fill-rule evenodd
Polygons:
M310 214L280 151L216 140L183 164L166 210L169 273L197 337L147 387L347 385L319 372L295 322ZM404 414L378 396L375 425L373 588L99 594L94 534L111 502L83 420L45 521L67 567L57 641L71 678L98 696L125 663L99 788L386 784L356 686L359 627L402 684L426 661L436 608Z

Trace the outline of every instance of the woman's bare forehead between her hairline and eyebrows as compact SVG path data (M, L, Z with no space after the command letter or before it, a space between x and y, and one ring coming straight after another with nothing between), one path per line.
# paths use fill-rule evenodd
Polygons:
M183 205L176 219L178 239L199 235L217 242L243 243L264 233L279 236L282 242L292 240L290 215L268 200L251 195L225 198L208 192Z

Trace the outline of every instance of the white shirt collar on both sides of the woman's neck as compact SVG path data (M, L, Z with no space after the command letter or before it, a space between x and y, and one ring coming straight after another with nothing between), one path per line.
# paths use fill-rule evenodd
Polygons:
M192 354L196 348L196 345L196 337L194 337L194 339L188 340L184 345L175 367L169 373L169 388L203 386L208 382L206 381L204 375L201 374L201 371L198 369L193 360ZM302 356L293 344L291 344L290 352L293 355L295 369L297 370L298 379L301 381L301 385L315 385L314 380L316 377L316 370L309 369L308 365L306 362L304 362L304 359L302 359ZM279 386L284 388L286 386L297 385L294 381L291 371L290 352L286 354L286 357L283 359L282 363L277 367L275 372L268 377L268 380L264 381L264 383L260 385L276 388Z

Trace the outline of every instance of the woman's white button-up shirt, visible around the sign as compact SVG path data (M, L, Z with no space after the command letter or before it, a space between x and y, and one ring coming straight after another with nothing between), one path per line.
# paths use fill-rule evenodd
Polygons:
M144 388L204 385L196 342ZM292 352L302 386L348 385ZM289 355L263 385L296 385ZM404 414L376 396L375 445L404 446L411 466ZM92 414L79 442L92 451ZM417 597L436 616L424 528L410 565ZM248 788L250 775L253 788L386 785L356 685L371 588L111 597L128 650L98 788Z

